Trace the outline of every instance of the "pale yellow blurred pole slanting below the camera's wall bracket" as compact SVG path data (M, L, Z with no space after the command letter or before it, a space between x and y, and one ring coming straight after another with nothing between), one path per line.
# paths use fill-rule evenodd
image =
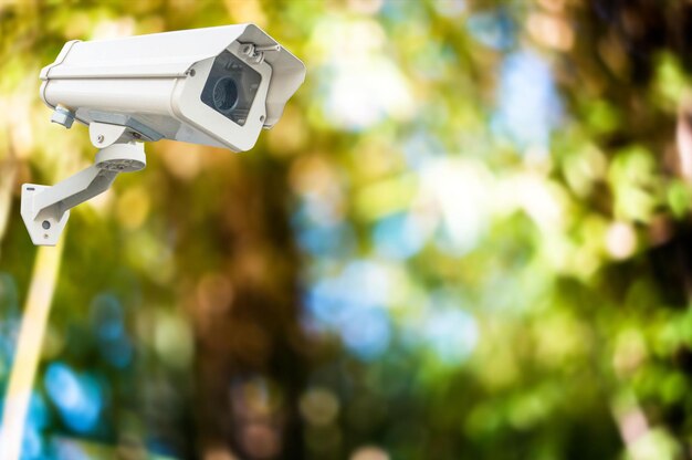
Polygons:
M62 247L63 244L59 243L54 248L40 247L36 251L2 412L0 427L0 459L2 460L19 460L21 457L27 410L41 357Z

